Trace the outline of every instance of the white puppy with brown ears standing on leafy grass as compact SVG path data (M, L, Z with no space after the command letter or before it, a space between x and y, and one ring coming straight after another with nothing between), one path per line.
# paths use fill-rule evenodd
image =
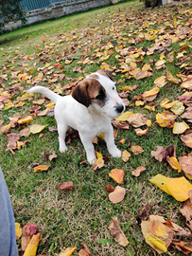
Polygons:
M113 157L121 152L114 145L111 119L118 117L125 105L118 96L112 74L108 70L98 70L79 82L72 95L60 96L44 86L34 86L30 93L39 92L54 101L55 118L58 123L60 151L67 151L65 135L68 126L79 131L79 137L90 164L96 162L92 137L104 135L108 151Z

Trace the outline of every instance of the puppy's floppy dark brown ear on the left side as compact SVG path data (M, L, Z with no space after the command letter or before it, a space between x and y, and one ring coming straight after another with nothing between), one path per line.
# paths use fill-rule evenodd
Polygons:
M72 97L86 107L88 107L91 103L88 95L88 86L88 82L83 80L79 82L78 85L76 85L75 89L72 92Z

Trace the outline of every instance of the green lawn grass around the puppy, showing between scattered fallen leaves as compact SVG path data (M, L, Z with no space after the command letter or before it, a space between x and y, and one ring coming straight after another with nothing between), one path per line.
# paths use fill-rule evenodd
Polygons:
M134 1L64 17L1 35L0 93L11 92L10 101L13 103L11 108L3 108L0 111L0 119L5 120L3 125L9 124L9 118L15 115L22 118L29 115L29 108L33 105L32 101L42 99L41 95L34 94L32 98L24 101L24 106L15 107L15 104L20 102L18 97L26 93L26 89L32 86L34 78L39 73L44 72L44 79L40 84L51 89L58 89L63 94L70 93L70 90L63 89L64 85L74 85L79 78L99 69L103 62L119 68L120 62L117 57L119 46L122 48L131 46L131 39L136 40L139 34L145 34L149 29L155 30L157 38L160 38L168 31L175 31L177 26L186 27L190 20L190 13L191 6L188 5L146 10L142 3ZM174 22L178 24L175 25ZM160 29L163 29L163 32L159 32ZM191 30L191 27L189 29ZM44 43L42 37L45 40ZM95 57L96 52L105 53L106 51L108 54L109 49L105 46L110 41L113 43L113 53L108 60L98 62L98 59L92 58L93 64L78 64L85 55L90 58ZM184 42L191 45L191 37L183 36L178 43L172 43L171 51L180 49L182 47L180 43ZM144 38L143 41L133 46L142 48L150 47L152 44L154 40L147 41ZM184 55L191 58L190 48L186 46L184 50ZM160 60L161 53L155 51L152 55L145 55L143 58L140 56L136 60L143 60L143 64L148 64L149 59ZM166 51L166 56L168 53ZM46 61L40 62L45 57ZM115 143L121 151L128 150L131 153L132 145L140 145L144 149L141 155L131 153L131 158L126 163L122 159L109 156L104 168L97 171L94 171L91 165L81 164L81 161L85 159L85 152L78 137L71 140L68 152L61 154L57 132L48 131L48 127L56 126L55 119L49 116L34 117L33 121L26 126L11 128L11 133L19 134L23 128L33 123L47 126L42 132L42 137L39 134L21 137L22 141L26 139L30 141L26 142L22 149L14 150L16 155L12 155L7 149L8 137L0 134L0 165L9 188L15 220L22 227L27 222L36 224L43 235L37 254L55 256L59 254L62 247L77 247L79 251L80 243L85 243L94 255L157 255L155 250L146 244L137 222L139 211L146 204L151 205L152 214L161 214L185 227L185 220L180 212L183 204L148 181L156 174L175 177L182 175L166 163L159 163L151 157L150 152L156 149L156 145L166 147L174 144L177 147L178 157L183 151L190 153L190 149L183 146L180 136L174 135L171 129L162 128L155 123L156 114L164 111L160 102L165 98L170 101L177 100L177 97L183 94L183 88L180 84L173 82L167 82L164 87L161 87L158 97L153 101L156 104L155 112L148 112L142 106L135 106L132 100L135 95L139 96L151 89L154 86L154 80L166 75L166 70L174 77L179 72L184 72L184 69L181 70L179 66L174 65L178 62L176 55L174 57L174 61L166 62L166 67L163 69L156 70L155 66L151 65L153 75L142 80L127 79L125 73L116 72L114 80L116 82L123 80L117 85L118 91L123 86L139 84L139 87L130 93L129 111L146 114L152 121L148 134L143 137L136 136L133 127L130 130L119 131L114 128L117 133ZM68 60L73 61L71 64L66 64ZM51 64L52 67L50 69L47 66L44 67L45 63ZM61 68L53 66L58 63L61 64ZM185 63L190 65L190 60ZM143 64L137 65L142 67ZM82 67L81 72L73 71L79 66ZM52 82L62 73L65 75L63 81ZM26 79L26 76L31 77ZM22 88L10 89L19 82L21 82L19 87ZM49 101L45 101L47 102ZM41 110L44 109L42 105ZM123 145L118 143L122 138L126 139ZM102 155L108 155L102 140L98 141L96 148ZM52 152L55 152L58 157L50 161L46 155ZM50 164L51 167L47 172L34 173L30 167L32 163ZM133 177L131 172L141 165L144 165L147 170L139 177ZM109 201L108 192L104 190L108 184L116 186L109 176L114 168L124 170L125 182L122 186L126 189L125 199L115 205ZM58 185L68 180L74 182L73 191L58 191ZM115 243L110 233L109 225L111 216L114 215L118 217L120 227L130 241L127 247L120 247ZM18 241L18 248L19 254L23 255L21 240ZM169 255L182 255L172 247L169 247L168 251ZM78 255L78 252L74 255Z

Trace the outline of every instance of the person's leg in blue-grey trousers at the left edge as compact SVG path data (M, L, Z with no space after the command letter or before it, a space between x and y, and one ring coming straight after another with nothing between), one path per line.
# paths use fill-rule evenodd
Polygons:
M17 256L15 221L9 191L0 168L0 255Z

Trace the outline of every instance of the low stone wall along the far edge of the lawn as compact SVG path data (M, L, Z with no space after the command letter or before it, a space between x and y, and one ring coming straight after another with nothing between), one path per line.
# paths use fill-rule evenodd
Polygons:
M115 0L113 2L116 3ZM118 2L127 2L127 0L120 0ZM73 13L109 6L111 4L111 0L66 0L65 2L52 4L47 9L39 9L28 12L26 25L41 23ZM5 28L14 29L17 27L22 27L20 22L11 22Z

